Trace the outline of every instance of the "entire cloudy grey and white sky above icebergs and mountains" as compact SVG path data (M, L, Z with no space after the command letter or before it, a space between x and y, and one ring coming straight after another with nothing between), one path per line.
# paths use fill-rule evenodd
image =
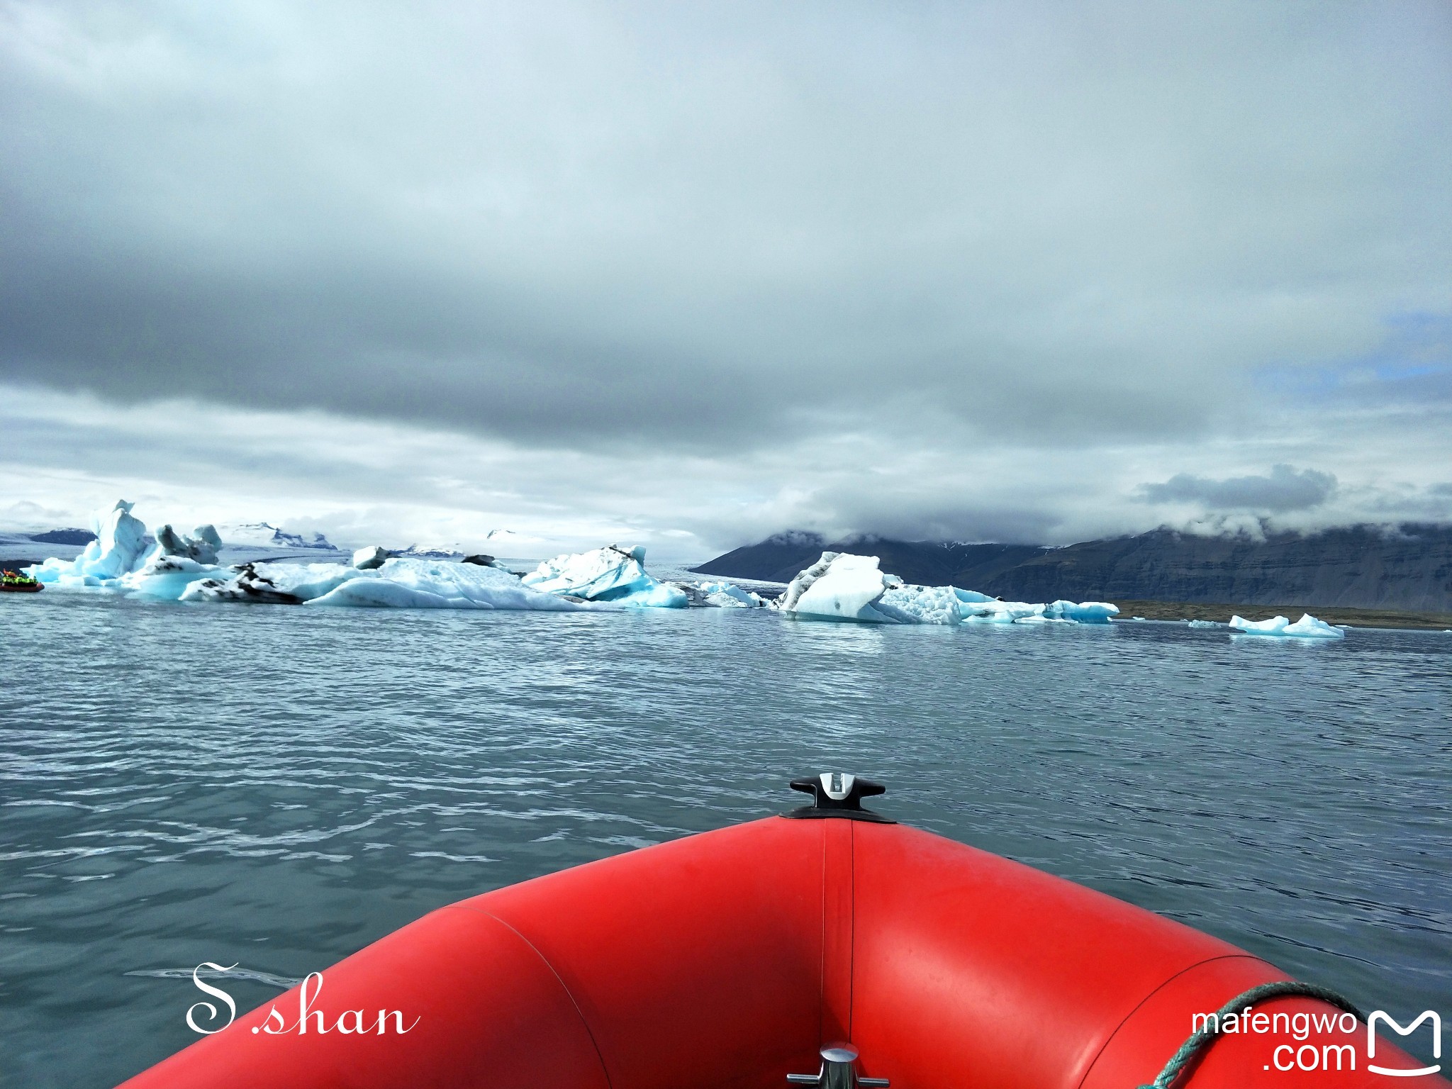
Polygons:
M1452 520L1452 6L0 3L0 523Z

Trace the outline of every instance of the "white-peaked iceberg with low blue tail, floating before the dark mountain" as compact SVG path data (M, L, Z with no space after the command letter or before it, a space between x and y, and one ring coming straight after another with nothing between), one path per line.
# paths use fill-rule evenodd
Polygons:
M823 552L804 568L775 607L809 620L877 624L1106 624L1119 608L1108 601L999 601L976 590L918 587L878 569L877 556Z

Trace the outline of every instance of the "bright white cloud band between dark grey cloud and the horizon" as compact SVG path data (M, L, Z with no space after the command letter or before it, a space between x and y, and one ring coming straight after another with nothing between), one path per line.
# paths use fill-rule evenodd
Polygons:
M1413 407L1262 412L1210 439L1035 446L963 431L948 414L867 415L739 454L682 456L0 386L0 523L84 524L125 497L148 523L269 520L354 544L514 556L630 542L698 560L783 527L1064 544L1160 524L1446 521L1449 423ZM491 544L491 530L508 536Z

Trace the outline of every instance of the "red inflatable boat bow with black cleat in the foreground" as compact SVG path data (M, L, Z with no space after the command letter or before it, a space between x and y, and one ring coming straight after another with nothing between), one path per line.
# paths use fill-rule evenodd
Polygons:
M1298 984L1223 1009L1286 979L1233 945L884 820L876 784L793 786L815 804L441 908L126 1085L1134 1089L1195 1029L1159 1085L1448 1085Z

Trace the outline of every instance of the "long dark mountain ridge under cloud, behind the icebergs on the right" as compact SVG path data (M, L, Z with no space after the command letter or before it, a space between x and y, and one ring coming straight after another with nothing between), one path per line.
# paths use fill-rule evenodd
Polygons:
M1321 533L1196 537L1151 530L1060 549L784 533L694 571L786 582L823 550L881 558L884 571L926 587L955 585L1012 601L1154 600L1452 611L1452 527L1395 531L1350 526Z

